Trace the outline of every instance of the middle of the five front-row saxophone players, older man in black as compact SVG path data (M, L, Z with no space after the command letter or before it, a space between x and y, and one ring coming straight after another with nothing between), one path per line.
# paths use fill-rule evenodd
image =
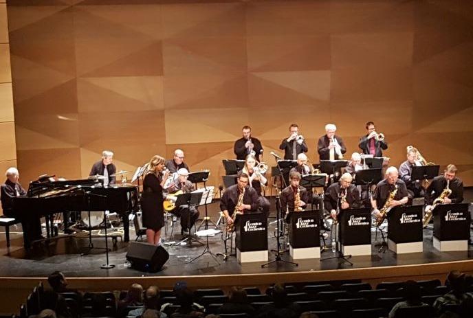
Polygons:
M325 209L333 220L337 219L337 207L340 207L338 212L342 212L344 209L356 209L362 205L360 192L351 181L353 177L345 172L338 183L333 183L325 191Z

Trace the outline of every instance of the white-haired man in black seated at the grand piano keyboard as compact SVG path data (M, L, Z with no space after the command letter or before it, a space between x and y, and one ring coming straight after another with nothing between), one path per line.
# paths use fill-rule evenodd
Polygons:
M5 172L5 176L7 179L5 180L5 183L1 185L0 191L3 215L8 218L18 218L19 216L17 216L17 213L15 213L13 208L12 198L15 196L24 196L26 191L18 182L19 172L17 168L8 168ZM29 247L32 240L43 238L41 235L41 221L36 214L32 213L28 219L22 219L21 226L23 227L25 247Z

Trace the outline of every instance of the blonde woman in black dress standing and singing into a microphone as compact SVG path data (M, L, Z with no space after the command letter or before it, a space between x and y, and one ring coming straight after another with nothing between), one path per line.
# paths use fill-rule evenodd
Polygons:
M169 171L161 175L164 170L165 159L153 156L146 167L143 179L143 193L141 209L143 226L146 227L146 240L149 244L158 245L161 237L161 228L164 226L163 189L162 186Z

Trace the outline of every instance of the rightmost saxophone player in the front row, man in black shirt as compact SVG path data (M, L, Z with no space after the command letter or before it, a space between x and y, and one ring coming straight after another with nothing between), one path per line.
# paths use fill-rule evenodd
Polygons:
M452 193L443 199L443 203L461 203L463 201L463 182L459 177L456 177L457 170L455 165L449 164L442 176L437 176L430 182L426 190L426 205L432 205L446 188L452 190Z

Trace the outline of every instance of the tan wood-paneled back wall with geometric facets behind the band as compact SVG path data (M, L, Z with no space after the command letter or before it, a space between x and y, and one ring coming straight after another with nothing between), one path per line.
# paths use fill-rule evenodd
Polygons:
M245 124L272 165L293 122L317 162L327 122L350 154L373 120L395 166L412 144L473 185L470 1L23 0L8 22L23 183L183 148L219 185Z

